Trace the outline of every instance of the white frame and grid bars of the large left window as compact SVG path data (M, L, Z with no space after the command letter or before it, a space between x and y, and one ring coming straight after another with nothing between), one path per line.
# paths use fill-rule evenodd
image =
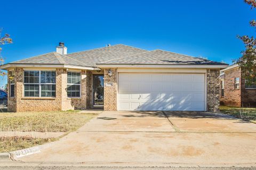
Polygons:
M25 83L25 71L39 71L39 83ZM42 71L53 71L53 70L42 70ZM56 72L56 71L55 71ZM55 83L41 83L41 70L24 70L23 71L23 85L25 84L38 84L39 85L39 96L25 96L25 88L23 89L23 97L24 98L56 98L56 75L55 75ZM41 96L41 85L49 84L55 85L55 96Z

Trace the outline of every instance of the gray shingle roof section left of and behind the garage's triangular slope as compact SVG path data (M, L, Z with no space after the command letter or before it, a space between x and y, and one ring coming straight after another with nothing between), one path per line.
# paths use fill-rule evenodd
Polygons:
M115 58L125 58L126 56L145 52L140 48L135 48L123 44L109 47L96 48L82 52L61 55L51 52L43 55L34 56L32 58L14 61L16 64L69 64L74 66L97 67L97 62L107 61Z

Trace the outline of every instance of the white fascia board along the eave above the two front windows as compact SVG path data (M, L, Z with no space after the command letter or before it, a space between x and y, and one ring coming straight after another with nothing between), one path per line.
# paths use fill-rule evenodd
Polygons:
M7 68L21 67L21 68L73 68L73 69L84 69L94 70L93 67L73 66L68 64L5 64L0 69L7 70Z

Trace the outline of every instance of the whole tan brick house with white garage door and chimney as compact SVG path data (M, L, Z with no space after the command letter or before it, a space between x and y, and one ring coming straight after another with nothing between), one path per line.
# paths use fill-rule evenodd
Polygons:
M163 50L114 45L57 52L5 64L9 111L219 110L227 64Z

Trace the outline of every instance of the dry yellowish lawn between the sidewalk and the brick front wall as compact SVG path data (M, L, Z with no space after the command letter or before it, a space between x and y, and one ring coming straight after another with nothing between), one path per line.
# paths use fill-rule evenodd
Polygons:
M97 114L77 110L40 112L0 112L0 131L71 132Z

